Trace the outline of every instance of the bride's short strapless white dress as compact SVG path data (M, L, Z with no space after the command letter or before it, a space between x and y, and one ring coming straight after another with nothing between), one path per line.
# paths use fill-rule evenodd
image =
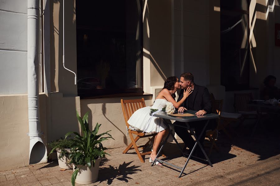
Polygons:
M158 133L165 130L166 126L163 123L171 123L170 120L150 116L150 109L162 109L166 107L167 102L165 99L156 99L152 106L136 110L128 119L128 124L135 130L146 133ZM150 120L151 117L152 119Z

